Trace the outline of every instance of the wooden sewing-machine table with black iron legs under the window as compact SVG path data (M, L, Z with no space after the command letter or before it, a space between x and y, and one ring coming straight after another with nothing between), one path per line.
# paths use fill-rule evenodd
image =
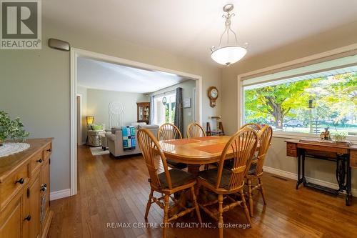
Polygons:
M346 192L346 205L351 204L351 168L357 168L357 146L337 143L327 143L316 140L286 140L286 155L298 159L298 182L304 187L323 190L331 194ZM305 158L323 159L336 162L336 179L338 189L331 189L307 182L305 178Z

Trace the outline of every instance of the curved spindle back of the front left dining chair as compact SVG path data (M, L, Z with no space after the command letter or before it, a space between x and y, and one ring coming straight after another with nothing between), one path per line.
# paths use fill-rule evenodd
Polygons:
M169 174L169 169L167 167L166 157L164 153L161 151L159 142L156 140L154 135L148 129L145 128L139 129L137 137L138 137L139 147L141 149L141 154L143 154L143 157L146 162L146 167L148 168L149 171L150 185L158 189L161 187L160 180L157 173L158 168L155 165L155 156L156 154L159 154L159 157L161 158L161 162L164 167L166 182L169 185L169 189L172 189L171 176Z

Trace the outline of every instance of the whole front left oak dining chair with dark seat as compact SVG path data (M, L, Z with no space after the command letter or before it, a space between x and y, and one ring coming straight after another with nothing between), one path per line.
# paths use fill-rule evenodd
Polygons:
M163 229L163 237L166 237L166 229L168 227L168 223L177 219L178 217L182 217L189 212L196 210L196 214L198 217L198 222L201 221L201 214L198 208L198 204L196 202L196 194L194 186L196 184L196 178L193 174L185 172L181 169L170 169L167 167L166 158L164 153L161 150L159 142L156 140L154 135L149 132L148 129L139 129L138 131L138 141L139 147L141 149L141 153L143 154L144 160L146 162L146 167L149 171L149 183L151 187L151 192L149 194L149 201L146 204L146 212L145 212L145 220L148 219L149 210L151 204L154 202L164 209L164 229ZM155 164L155 160L158 159L156 154L159 154L161 159L161 163L164 167L164 172L158 174L158 166ZM183 191L185 189L191 190L192 202L193 206L191 208L187 208L184 205L180 204L178 200L176 200L172 194L176 192ZM163 194L161 197L154 197L154 192L158 192ZM174 214L169 217L169 199L177 205L180 206L183 211L178 212L178 214ZM164 200L164 203L161 202Z

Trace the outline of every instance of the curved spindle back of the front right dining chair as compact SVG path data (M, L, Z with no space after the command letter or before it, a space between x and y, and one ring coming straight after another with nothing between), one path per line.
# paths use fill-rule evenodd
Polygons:
M250 128L242 129L229 139L224 147L221 160L218 165L218 175L216 189L221 187L221 177L224 161L230 150L233 150L233 168L231 169L231 177L228 183L229 190L240 189L244 185L244 177L248 172L248 165L251 162L253 153L256 151L258 143L258 134Z

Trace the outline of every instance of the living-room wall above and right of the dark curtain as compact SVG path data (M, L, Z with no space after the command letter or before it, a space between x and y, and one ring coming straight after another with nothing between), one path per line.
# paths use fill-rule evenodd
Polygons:
M163 94L166 91L172 91L176 90L176 88L182 88L182 99L188 99L191 98L191 108L184 108L183 109L183 135L182 137L186 137L186 127L188 124L193 122L193 116L194 116L194 107L193 107L193 89L196 87L196 80L186 80L183 81L182 83L175 84L173 86L169 86L166 89L161 89L159 91L154 91L149 96L152 95L157 95L157 94ZM198 90L197 93L198 94ZM203 124L205 124L206 120L203 120Z

